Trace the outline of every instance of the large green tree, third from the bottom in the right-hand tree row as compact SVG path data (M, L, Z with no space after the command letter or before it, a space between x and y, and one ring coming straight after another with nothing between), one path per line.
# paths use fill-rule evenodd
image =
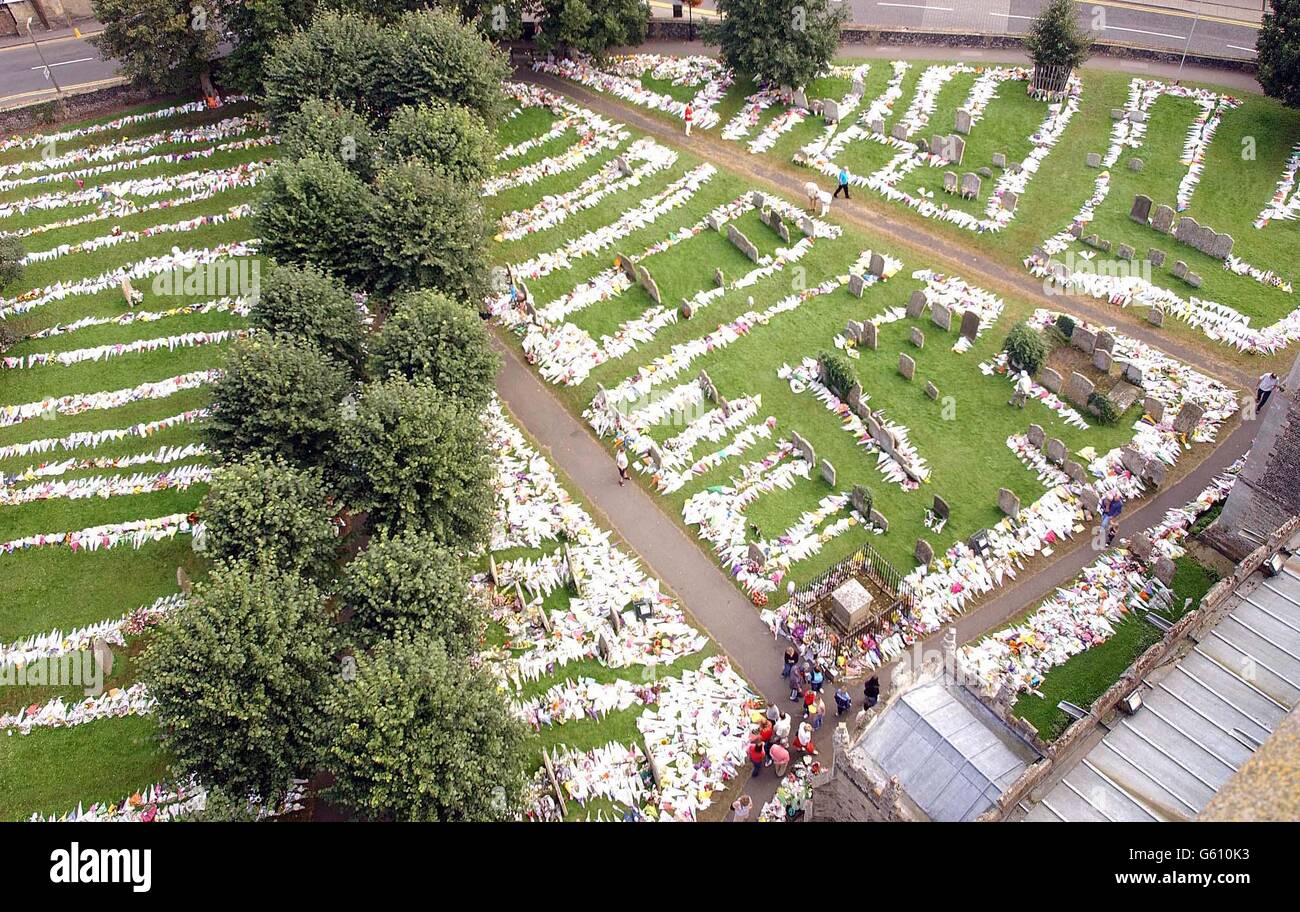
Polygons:
M381 530L412 530L448 547L486 540L491 461L478 413L426 383L370 383L332 465L347 501Z

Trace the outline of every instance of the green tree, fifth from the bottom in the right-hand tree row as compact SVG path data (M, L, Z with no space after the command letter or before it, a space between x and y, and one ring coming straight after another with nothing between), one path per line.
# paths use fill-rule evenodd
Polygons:
M374 179L361 285L380 294L436 288L462 301L482 296L488 229L474 186L422 161L391 165Z

